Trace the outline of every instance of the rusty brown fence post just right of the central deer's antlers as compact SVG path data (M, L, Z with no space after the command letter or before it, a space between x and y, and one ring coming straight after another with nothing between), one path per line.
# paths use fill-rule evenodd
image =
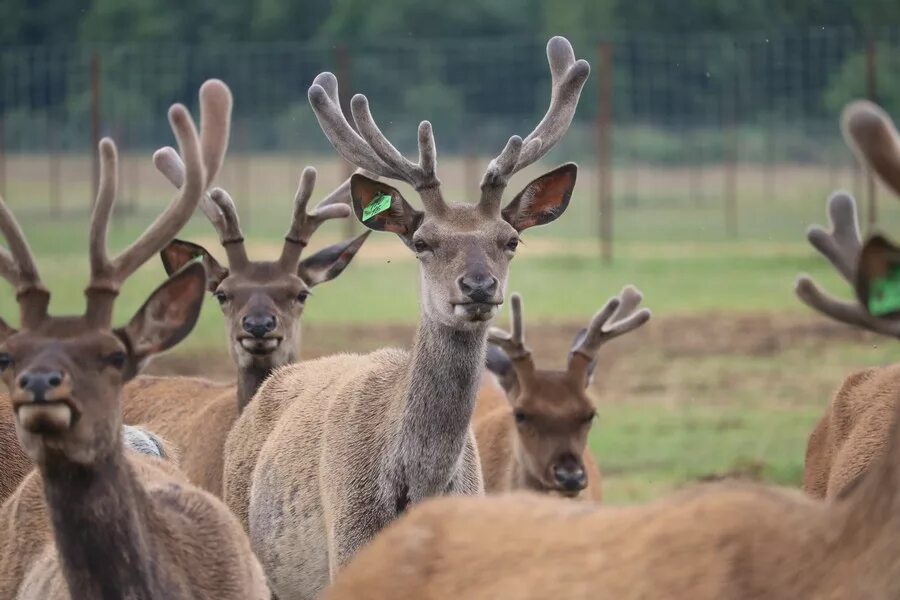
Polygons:
M604 264L613 259L613 202L612 202L612 80L613 47L601 42L597 48L600 65L597 82L597 195L600 207L600 244Z

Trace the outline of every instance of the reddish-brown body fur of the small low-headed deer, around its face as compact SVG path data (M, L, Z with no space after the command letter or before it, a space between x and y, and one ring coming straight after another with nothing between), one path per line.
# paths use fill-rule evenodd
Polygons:
M526 476L520 458L519 431L513 418L513 409L506 392L490 373L484 373L478 399L472 416L472 430L478 442L478 456L481 458L481 472L484 475L484 491L498 494L511 490L532 490L559 493L545 486L533 485ZM603 479L597 461L590 449L581 455L587 487L577 498L587 498L599 502L603 499Z

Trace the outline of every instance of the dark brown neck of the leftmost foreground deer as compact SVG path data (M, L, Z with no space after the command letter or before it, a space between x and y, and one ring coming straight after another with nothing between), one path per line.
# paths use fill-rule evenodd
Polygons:
M54 457L40 467L63 574L73 597L163 598L149 499L115 447L90 465Z

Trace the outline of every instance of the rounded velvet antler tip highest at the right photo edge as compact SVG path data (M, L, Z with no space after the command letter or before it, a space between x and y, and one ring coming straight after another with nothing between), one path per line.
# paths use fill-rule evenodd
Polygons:
M841 129L859 159L900 195L900 135L888 114L868 100L857 100L844 109Z

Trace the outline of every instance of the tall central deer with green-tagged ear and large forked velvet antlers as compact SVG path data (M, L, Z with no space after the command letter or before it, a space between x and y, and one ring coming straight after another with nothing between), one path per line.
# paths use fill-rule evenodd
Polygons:
M475 205L444 200L430 123L419 126L413 164L382 135L365 96L351 102L354 130L332 74L319 75L310 88L319 123L345 159L418 190L424 211L384 183L363 175L351 180L357 217L370 229L396 233L418 258L422 312L410 352L345 354L276 371L228 436L225 500L247 525L282 600L315 597L411 504L483 492L470 420L488 323L503 301L519 234L559 217L575 185L575 165L564 165L501 210L509 178L569 127L589 73L563 38L552 39L547 53L553 75L547 115L524 141L510 138L490 163ZM373 201L381 210L368 208Z

